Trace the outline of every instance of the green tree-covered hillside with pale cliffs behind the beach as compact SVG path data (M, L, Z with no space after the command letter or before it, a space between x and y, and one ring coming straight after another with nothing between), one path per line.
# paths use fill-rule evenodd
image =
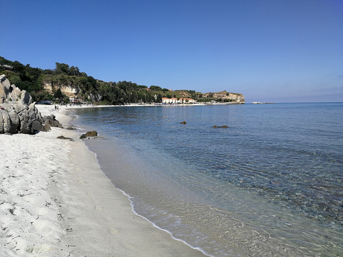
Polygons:
M233 101L202 94L194 90L169 91L152 85L137 85L131 81L104 82L81 72L77 66L56 62L55 69L33 68L29 64L0 57L0 74L5 74L11 84L28 91L33 100L41 102L69 102L69 97L97 105L123 105L128 102L162 102L167 98L192 98L197 101ZM226 91L225 91L226 92ZM210 97L209 97L210 96ZM225 97L224 97L225 98ZM243 98L244 99L244 98Z

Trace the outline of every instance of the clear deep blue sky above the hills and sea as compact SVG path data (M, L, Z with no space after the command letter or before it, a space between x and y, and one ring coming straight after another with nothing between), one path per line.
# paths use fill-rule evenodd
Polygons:
M343 101L342 0L5 1L0 56L247 102Z

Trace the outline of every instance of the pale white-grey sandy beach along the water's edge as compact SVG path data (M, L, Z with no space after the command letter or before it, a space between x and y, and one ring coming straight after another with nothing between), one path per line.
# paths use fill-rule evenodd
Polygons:
M73 107L37 108L71 125ZM0 135L0 256L205 256L136 215L75 131L51 129Z

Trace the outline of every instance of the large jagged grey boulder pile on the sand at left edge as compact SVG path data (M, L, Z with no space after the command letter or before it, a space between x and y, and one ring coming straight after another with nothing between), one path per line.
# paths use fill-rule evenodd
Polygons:
M5 75L0 76L0 134L48 131L43 117L32 102L31 95L10 85Z

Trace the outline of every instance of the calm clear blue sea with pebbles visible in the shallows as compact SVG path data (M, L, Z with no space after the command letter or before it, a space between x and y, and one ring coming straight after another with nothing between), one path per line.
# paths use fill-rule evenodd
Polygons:
M212 256L343 256L343 103L74 114L105 137L86 144L134 210L175 238Z

